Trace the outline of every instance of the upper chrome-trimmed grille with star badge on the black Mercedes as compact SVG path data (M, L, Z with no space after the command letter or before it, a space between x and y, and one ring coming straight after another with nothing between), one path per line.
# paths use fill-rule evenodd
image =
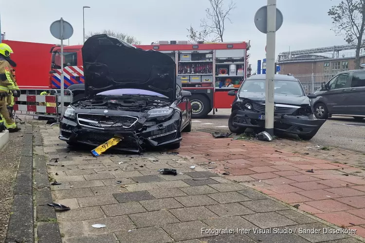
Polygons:
M138 118L131 116L106 116L97 114L77 114L77 121L81 126L105 128L130 128Z

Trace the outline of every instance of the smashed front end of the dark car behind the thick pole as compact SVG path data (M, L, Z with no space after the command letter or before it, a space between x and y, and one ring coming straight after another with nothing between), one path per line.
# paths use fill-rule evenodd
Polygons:
M301 139L311 139L326 120L316 119L310 104L274 104L274 131L291 133ZM249 99L236 101L232 105L230 128L253 128L256 131L265 128L265 104ZM231 129L232 131L232 129Z

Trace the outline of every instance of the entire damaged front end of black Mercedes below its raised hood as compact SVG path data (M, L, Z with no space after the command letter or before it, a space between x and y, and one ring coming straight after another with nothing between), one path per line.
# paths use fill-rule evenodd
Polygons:
M179 143L180 113L169 105L168 99L141 95L81 100L65 111L59 139L99 146L119 138L113 149L132 153Z

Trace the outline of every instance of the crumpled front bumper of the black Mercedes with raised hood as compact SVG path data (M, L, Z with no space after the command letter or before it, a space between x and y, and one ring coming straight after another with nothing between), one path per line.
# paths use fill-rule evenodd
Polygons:
M134 130L100 130L79 125L76 121L62 118L59 122L59 139L75 144L99 146L114 136L122 140L112 149L119 151L140 153L148 147L160 147L182 140L180 133L180 116L178 119L173 116L170 120L152 125L141 126L141 129Z

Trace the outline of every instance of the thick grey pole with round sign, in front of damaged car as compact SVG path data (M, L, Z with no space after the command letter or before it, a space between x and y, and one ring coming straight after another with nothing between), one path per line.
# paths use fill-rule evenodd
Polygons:
M256 28L266 34L265 131L274 135L275 32L283 24L283 15L276 8L276 0L267 0L267 6L255 14ZM265 71L266 71L265 70Z

